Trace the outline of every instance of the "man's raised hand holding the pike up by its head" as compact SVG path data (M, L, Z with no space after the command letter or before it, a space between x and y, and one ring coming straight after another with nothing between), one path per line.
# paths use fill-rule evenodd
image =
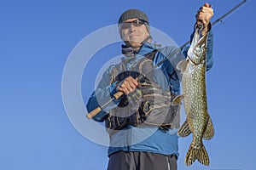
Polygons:
M208 31L208 25L210 23L210 20L213 16L213 8L209 3L205 3L204 6L202 6L195 15L195 18L197 20L197 24L200 24L203 26L203 30L201 31L202 35L206 35Z

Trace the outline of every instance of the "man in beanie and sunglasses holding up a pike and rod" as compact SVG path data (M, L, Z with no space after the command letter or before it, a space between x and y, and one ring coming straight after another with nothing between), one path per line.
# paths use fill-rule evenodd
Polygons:
M208 3L196 14L197 24L203 26L201 35L208 33L207 70L212 67L212 15ZM148 16L138 9L121 14L119 34L125 42L125 59L105 71L87 104L87 110L92 111L117 92L123 93L93 117L96 122L105 121L109 133L108 170L175 170L179 106L171 104L180 93L176 65L185 58L188 48L173 54L175 47L154 47ZM154 67L169 54L170 59Z

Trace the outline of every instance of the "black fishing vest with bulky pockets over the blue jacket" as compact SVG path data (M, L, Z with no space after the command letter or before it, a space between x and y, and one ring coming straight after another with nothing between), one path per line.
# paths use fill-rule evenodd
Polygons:
M113 67L109 75L111 84L121 82L129 76L137 78L141 75L143 78L139 80L140 87L128 96L124 94L118 107L109 112L105 120L108 133L112 134L127 125L157 126L164 129L173 127L172 123L179 111L179 105L172 105L175 95L171 93L171 89L164 90L154 81L152 70L156 52L157 50L154 50L144 55L143 59L134 64L129 71L126 69L129 57Z

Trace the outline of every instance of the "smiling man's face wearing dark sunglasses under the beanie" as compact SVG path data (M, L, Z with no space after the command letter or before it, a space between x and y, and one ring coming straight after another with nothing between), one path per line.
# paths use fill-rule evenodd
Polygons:
M119 29L123 41L128 42L132 47L141 47L143 40L149 36L143 20L125 20L119 25Z

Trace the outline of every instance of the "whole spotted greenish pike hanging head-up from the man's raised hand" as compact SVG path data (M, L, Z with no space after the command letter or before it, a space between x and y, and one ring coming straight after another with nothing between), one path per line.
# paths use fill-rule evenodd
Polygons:
M177 64L182 73L183 93L173 100L177 105L183 100L186 121L178 129L177 134L187 137L193 133L193 141L189 146L185 163L192 165L195 160L208 166L210 163L207 150L202 139L212 139L214 128L207 111L206 64L207 64L207 35L201 36L199 26L188 51L187 59Z

